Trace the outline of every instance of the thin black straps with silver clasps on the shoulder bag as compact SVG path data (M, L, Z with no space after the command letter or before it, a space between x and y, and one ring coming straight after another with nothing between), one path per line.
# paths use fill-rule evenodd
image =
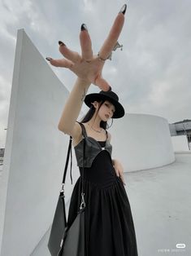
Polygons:
M81 124L80 122L78 122L81 126L82 129L82 136L83 136L83 169L82 169L82 189L81 189L81 203L80 203L80 210L83 210L85 208L85 192L84 192L84 169L85 169L85 128L83 126L83 124ZM71 181L72 181L72 136L70 136L70 140L69 140L69 145L67 148L67 161L65 164L65 168L64 168L64 172L63 172L63 183L62 183L62 188L60 190L60 194L62 193L62 195L64 196L64 184L65 184L65 180L66 180L66 175L67 175L67 166L68 166L68 162L69 162L69 158L71 156L71 170L70 170L70 174L71 174Z

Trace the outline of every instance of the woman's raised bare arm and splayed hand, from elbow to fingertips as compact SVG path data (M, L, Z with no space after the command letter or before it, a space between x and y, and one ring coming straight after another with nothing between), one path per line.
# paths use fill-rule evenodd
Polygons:
M46 58L55 67L68 68L77 76L58 125L59 130L62 130L67 135L72 135L72 137L79 136L80 127L76 124L76 119L79 116L85 95L91 83L98 86L101 90L110 89L110 85L102 77L102 68L123 28L126 7L127 5L125 4L116 16L111 31L99 51L99 55L93 55L88 29L85 24L82 24L80 31L81 55L76 51L70 50L63 42L59 41L59 51L64 58L60 60Z

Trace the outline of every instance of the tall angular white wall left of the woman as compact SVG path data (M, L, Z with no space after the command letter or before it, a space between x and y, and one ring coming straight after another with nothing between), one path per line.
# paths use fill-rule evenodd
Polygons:
M58 130L67 95L20 29L1 180L1 256L30 255L50 227L69 141L69 136ZM73 157L74 180L80 174L75 166ZM73 187L69 168L67 174L68 200Z

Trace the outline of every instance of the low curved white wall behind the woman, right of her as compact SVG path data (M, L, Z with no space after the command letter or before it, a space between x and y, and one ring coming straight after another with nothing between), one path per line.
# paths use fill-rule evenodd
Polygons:
M113 157L124 172L165 166L175 161L168 122L163 117L126 114L111 126ZM109 129L109 130L110 130Z

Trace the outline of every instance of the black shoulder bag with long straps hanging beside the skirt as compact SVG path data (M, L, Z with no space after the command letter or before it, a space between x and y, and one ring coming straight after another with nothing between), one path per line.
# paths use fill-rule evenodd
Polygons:
M69 155L72 155L72 136L67 150L67 161L63 174L62 188L59 192L59 200L54 213L54 219L48 241L48 249L51 256L84 256L85 255L85 192L84 192L84 167L85 167L85 136L83 135L83 170L81 203L70 227L67 226L66 208L64 201L64 183L67 174Z

